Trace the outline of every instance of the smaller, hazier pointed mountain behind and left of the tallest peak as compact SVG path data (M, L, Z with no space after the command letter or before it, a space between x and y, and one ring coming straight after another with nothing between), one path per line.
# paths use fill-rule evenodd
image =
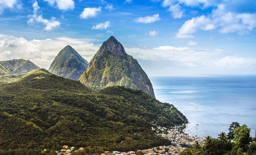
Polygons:
M86 71L88 61L82 58L71 46L62 49L52 62L49 72L63 78L78 80Z

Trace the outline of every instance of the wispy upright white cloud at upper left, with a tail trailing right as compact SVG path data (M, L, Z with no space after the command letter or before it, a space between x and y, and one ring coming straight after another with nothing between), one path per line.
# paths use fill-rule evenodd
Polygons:
M36 23L44 24L45 31L50 31L50 30L53 30L53 29L59 27L60 22L56 21L55 17L52 17L51 20L48 20L48 19L45 19L44 17L42 17L42 14L38 13L40 10L40 7L38 6L37 1L34 2L33 8L34 8L33 14L29 15L29 20L28 20L29 25L34 25Z

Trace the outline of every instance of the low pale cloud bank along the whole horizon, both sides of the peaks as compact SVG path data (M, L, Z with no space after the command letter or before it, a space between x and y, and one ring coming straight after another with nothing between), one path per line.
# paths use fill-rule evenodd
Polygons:
M96 40L68 37L27 40L0 34L0 58L29 59L39 67L48 69L58 52L67 45L90 61L100 47L93 41ZM153 49L125 47L125 51L133 55L148 74L239 74L248 73L249 69L252 71L249 73L256 73L256 58L230 55L221 49L161 46Z

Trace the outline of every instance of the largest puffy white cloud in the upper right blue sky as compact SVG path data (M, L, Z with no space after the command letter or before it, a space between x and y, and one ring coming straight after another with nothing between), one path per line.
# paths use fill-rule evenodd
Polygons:
M256 27L256 13L235 13L227 11L224 4L219 5L208 16L191 18L178 30L176 37L193 38L197 30L218 29L220 33L250 33Z

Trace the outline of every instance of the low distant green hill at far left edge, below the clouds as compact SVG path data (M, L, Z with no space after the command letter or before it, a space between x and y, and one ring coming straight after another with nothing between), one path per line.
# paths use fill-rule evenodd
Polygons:
M29 60L13 59L0 61L0 75L24 74L35 69L39 69L39 67Z

